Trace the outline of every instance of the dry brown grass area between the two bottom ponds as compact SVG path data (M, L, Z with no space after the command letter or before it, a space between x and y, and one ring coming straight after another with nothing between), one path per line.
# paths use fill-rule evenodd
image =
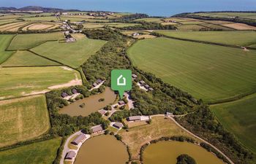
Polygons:
M187 136L193 138L172 120L164 117L153 117L151 124L130 128L129 131L121 130L118 134L122 137L122 141L128 145L132 160L139 158L140 147L148 143L148 141L163 136ZM194 139L197 141L196 138Z

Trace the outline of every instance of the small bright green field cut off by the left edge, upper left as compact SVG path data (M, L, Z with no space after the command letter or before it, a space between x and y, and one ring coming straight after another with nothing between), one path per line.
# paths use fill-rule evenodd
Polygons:
M12 40L13 35L0 35L0 64L13 54L13 52L5 51Z

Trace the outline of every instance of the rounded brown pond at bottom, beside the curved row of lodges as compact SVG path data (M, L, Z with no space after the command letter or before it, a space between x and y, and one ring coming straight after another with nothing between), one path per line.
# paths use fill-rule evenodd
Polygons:
M86 141L75 158L75 164L125 164L127 147L114 136L101 135Z

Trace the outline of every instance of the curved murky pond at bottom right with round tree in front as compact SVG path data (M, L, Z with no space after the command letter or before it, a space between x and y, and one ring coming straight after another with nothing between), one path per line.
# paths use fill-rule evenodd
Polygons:
M203 147L179 141L159 141L149 145L143 153L143 160L144 164L176 164L176 158L181 154L193 157L197 164L224 164Z

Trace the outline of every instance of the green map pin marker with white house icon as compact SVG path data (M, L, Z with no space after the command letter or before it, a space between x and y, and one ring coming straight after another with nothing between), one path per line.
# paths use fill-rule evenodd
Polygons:
M124 91L132 89L132 71L128 69L114 69L111 71L111 89L117 90L120 98Z

